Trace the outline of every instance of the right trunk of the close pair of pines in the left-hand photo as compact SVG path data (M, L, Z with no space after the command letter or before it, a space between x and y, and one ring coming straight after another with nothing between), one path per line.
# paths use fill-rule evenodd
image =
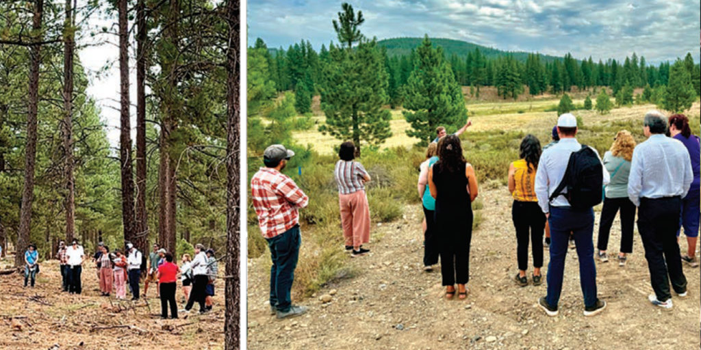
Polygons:
M136 237L132 243L139 251L147 251L149 234L146 210L146 6L137 3L137 62L136 62Z

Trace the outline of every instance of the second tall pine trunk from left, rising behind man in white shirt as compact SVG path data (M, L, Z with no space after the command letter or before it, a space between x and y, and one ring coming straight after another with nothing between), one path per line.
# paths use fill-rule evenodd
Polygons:
M66 176L66 239L71 241L75 231L75 183L73 179L73 55L75 48L73 27L73 0L66 0L66 22L64 23L63 59L63 148L65 152Z

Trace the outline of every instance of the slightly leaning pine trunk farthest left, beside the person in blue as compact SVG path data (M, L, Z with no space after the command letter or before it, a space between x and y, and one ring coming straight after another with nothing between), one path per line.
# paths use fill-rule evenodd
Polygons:
M43 20L43 0L34 1L34 18L32 29L39 36L32 38L36 45L29 48L31 65L29 66L29 101L27 103L27 146L25 148L25 188L22 190L22 207L20 209L20 230L15 246L15 267L25 265L22 254L29 244L29 230L32 228L32 200L34 196L34 166L36 165L36 115L39 112L39 65L41 64L41 22Z

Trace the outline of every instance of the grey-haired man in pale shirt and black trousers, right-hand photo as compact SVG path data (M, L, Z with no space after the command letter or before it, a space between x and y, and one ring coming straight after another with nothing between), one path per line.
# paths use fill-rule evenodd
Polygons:
M638 231L655 290L648 300L657 307L672 309L670 281L676 295L687 295L676 231L681 218L681 199L688 194L694 174L686 147L681 141L665 136L667 119L662 113L646 114L644 132L648 140L633 151L628 197L639 207Z

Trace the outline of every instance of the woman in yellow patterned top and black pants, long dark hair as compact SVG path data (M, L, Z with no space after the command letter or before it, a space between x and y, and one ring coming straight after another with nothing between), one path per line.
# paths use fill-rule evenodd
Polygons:
M526 136L521 142L520 160L513 162L509 168L509 191L514 197L512 218L516 228L517 255L519 273L515 280L519 286L528 286L529 240L533 245L533 286L540 286L543 277L543 232L545 232L545 214L538 206L536 197L536 172L543 150L540 141L533 135Z

